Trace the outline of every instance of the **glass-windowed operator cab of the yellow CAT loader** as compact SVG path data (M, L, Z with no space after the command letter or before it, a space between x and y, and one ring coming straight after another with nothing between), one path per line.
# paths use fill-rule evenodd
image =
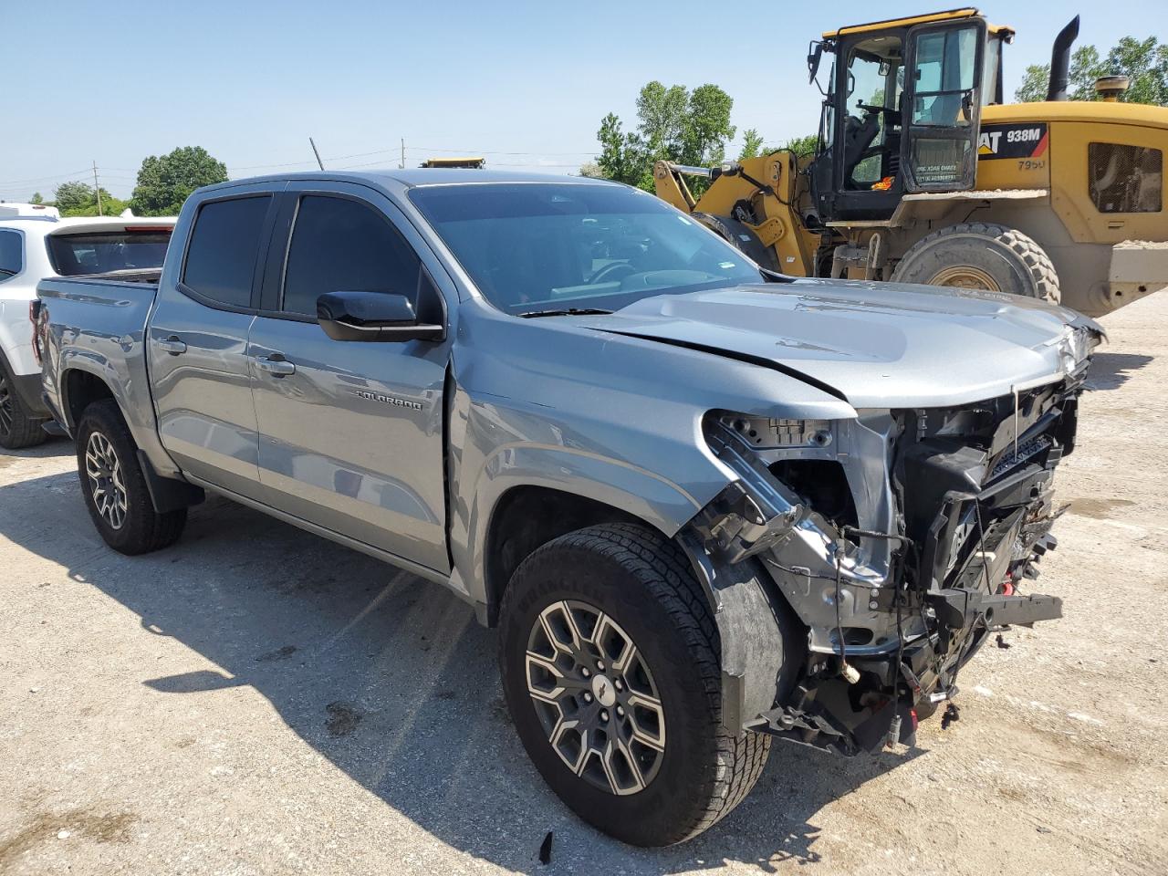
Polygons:
M974 187L983 82L1000 82L987 34L975 9L958 9L813 43L823 109L808 173L820 222L888 220L906 193ZM825 55L830 71L816 78Z

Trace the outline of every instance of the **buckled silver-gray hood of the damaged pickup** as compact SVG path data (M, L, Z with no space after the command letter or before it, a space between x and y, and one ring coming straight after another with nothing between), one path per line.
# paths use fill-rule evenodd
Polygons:
M577 325L767 363L854 408L966 404L1049 383L1104 335L1033 299L842 280L654 296Z

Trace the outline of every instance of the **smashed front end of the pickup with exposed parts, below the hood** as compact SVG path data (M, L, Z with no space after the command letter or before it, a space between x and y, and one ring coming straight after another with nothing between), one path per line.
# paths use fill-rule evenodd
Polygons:
M738 580L718 570L755 557L806 627L806 649L787 654L798 677L774 691L771 675L766 703L723 628L728 724L847 755L911 743L987 637L1061 617L1057 597L1022 591L1055 547L1051 480L1075 447L1086 366L953 408L708 415L705 440L737 480L683 544L716 612Z

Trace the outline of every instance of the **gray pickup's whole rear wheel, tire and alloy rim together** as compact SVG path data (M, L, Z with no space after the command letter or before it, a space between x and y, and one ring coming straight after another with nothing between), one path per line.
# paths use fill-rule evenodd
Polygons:
M114 550L147 554L182 535L187 509L154 510L138 447L112 398L93 402L77 424L77 471L89 516Z

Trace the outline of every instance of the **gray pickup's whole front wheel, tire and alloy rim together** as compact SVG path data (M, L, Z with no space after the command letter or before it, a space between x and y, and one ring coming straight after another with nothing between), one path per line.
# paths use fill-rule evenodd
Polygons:
M770 737L722 725L717 626L672 542L631 524L561 536L523 561L500 617L515 728L585 821L667 846L758 780Z

